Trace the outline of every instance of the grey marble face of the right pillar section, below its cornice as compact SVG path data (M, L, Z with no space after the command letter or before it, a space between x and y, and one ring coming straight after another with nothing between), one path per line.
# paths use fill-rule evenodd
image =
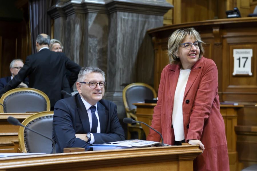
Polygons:
M153 84L154 51L146 31L162 26L162 22L162 16L127 12L110 15L106 98L117 104L118 114L123 117L124 87L134 82Z

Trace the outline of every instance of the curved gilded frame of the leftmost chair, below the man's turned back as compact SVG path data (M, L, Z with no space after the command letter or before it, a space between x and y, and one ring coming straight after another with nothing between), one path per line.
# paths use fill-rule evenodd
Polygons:
M5 100L6 97L8 97L9 95L11 95L13 93L17 93L17 92L20 92L20 91L31 91L31 92L38 93L38 94L42 95L47 102L47 111L50 111L50 100L49 100L48 96L43 91L40 91L40 90L35 89L35 88L15 88L15 89L9 90L9 91L7 91L6 93L3 94L3 96L0 99L0 103L4 105L4 100ZM2 105L0 105L0 113L5 113Z

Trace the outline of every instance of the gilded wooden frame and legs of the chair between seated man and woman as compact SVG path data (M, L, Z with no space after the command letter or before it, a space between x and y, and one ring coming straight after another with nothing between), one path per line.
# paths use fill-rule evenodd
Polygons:
M149 88L150 90L152 90L154 98L156 98L157 95L156 95L154 88L145 83L132 83L132 84L127 85L123 89L122 97L123 97L123 102L124 102L124 106L125 106L126 116L128 118L133 117L136 121L138 121L137 117L136 117L136 109L130 110L128 107L127 99L126 99L126 91L134 86L144 86L144 87ZM142 127L140 126L140 123L136 123L135 125L128 124L127 139L131 138L130 132L137 132L138 139L142 139L142 137L143 137L143 130L142 130Z

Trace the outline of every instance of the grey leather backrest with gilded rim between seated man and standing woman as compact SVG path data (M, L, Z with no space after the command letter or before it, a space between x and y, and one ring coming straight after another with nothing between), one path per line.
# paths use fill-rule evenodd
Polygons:
M132 83L123 89L123 102L126 111L136 109L132 103L142 102L145 99L156 98L156 92L153 87L144 83Z

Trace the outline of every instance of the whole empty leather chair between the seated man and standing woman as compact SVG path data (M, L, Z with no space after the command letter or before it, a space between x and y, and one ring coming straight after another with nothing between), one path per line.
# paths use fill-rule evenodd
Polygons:
M128 118L137 121L136 106L133 103L143 102L145 99L156 98L156 92L153 87L144 83L132 83L123 89L123 102ZM138 133L138 139L143 139L144 131L140 123L128 124L127 139L131 138L131 132Z

